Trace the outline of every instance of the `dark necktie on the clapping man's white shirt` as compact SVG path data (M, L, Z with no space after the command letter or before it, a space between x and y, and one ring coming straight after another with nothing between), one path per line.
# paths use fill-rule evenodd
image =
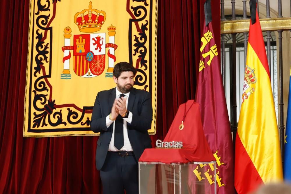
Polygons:
M125 97L124 94L120 94L119 97ZM114 129L114 146L120 150L124 145L123 140L123 118L118 115L115 120L115 129Z

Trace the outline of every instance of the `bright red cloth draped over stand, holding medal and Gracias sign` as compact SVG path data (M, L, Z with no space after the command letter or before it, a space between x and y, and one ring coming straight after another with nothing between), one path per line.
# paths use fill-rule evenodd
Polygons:
M182 120L184 120L184 128L180 130L179 126L182 124ZM163 141L180 141L183 143L183 147L181 149L145 149L139 161L162 163L215 161L204 136L199 104L195 103L194 100L188 100L186 103L180 105L168 134Z

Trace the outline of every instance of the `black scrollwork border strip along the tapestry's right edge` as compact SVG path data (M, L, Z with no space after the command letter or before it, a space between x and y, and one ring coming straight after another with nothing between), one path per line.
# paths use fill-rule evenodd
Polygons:
M155 26L153 28L152 26L152 13L153 13L153 1L155 1L155 8L156 10L155 13L157 13L157 0L149 0L150 3L147 3L147 0L132 0L132 2L140 2L143 3L143 5L138 5L138 6L130 6L130 11L133 13L133 16L131 19L129 19L129 34L128 37L134 37L133 40L129 38L129 63L131 64L139 64L139 68L137 68L138 74L135 76L134 84L137 86L144 86L143 90L147 90L152 94L157 93L157 87L156 87L156 80L153 80L153 73L154 73L154 78L156 79L157 77L157 72L155 69L156 65L156 56L157 56L157 45L155 46L155 50L153 52L152 50L152 43L153 40L156 44L157 42L157 36L152 37L152 32L155 32L157 34L157 17L155 17ZM148 9L146 7L149 7L149 13ZM149 15L149 20L146 20L145 18ZM137 19L136 19L137 18ZM137 22L141 22L140 29L138 30L138 34L133 34L133 26L137 25ZM146 31L148 31L148 36ZM132 48L132 41L134 42L133 48ZM148 48L145 46L145 44L148 43L149 46ZM146 56L148 54L148 60L146 60ZM133 56L138 57L138 61L133 61ZM152 58L155 57L155 63L152 62ZM149 70L149 78L147 77L147 74L145 71ZM147 80L149 79L149 84L147 85ZM154 83L153 83L154 82ZM154 90L152 87L152 84L155 84ZM156 134L156 104L157 104L157 98L156 95L154 96L154 131L149 132L149 134Z

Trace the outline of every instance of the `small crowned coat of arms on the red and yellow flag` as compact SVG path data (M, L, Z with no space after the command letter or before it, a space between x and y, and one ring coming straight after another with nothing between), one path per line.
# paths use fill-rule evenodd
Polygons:
M255 92L255 89L252 88L249 84L254 84L257 82L257 78L255 77L255 69L246 65L246 69L244 72L244 87L242 94L242 103L245 99L248 99L249 96Z

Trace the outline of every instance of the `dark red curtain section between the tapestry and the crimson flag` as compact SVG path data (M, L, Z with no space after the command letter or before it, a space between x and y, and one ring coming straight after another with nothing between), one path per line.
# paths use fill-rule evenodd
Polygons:
M199 7L199 0L159 1L158 139L166 136L179 105L195 97L201 38Z

